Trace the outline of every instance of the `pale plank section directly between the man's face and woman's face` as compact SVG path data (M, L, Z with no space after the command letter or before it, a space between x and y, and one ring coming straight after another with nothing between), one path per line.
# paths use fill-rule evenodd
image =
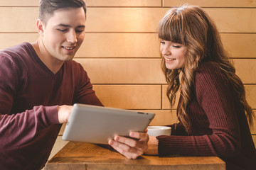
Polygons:
M159 47L155 33L85 33L76 56L160 57Z

